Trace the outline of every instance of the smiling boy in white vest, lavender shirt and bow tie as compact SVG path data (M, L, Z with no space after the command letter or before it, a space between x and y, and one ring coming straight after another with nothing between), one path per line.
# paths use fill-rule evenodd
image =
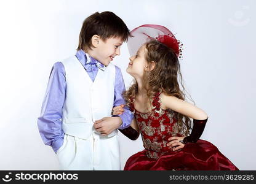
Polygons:
M75 56L54 64L38 118L44 144L50 145L63 170L120 170L117 129L130 126L132 112L111 117L124 104L119 67L111 64L129 37L113 12L84 20Z

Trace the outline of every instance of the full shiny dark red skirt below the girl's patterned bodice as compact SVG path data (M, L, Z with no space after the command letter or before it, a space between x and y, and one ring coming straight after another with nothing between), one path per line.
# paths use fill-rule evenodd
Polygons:
M146 150L130 156L124 170L239 170L215 145L199 139L187 143L180 151L163 155L158 159L148 158Z

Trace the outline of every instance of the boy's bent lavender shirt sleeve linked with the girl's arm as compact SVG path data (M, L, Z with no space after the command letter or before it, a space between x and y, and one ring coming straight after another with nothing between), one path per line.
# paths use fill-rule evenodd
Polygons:
M124 98L122 97L122 93L126 90L126 86L124 85L124 79L122 79L122 72L119 67L116 67L116 80L114 83L114 105L113 107L116 107L121 104L126 104L124 101ZM114 115L114 117L118 116L122 120L122 125L119 127L119 129L124 129L130 126L130 123L132 122L132 118L134 115L130 111L129 107L125 105L123 107L124 112L121 115Z

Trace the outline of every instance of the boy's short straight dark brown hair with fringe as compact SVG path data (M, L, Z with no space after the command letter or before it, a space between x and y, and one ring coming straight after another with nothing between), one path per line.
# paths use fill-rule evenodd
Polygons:
M84 20L79 35L77 50L92 49L92 36L97 34L105 41L110 37L120 37L122 41L127 41L130 31L124 21L113 12L95 12Z

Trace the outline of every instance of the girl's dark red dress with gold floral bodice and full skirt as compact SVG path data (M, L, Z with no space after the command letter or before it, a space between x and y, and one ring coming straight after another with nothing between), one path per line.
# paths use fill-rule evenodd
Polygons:
M177 113L160 109L159 93L153 99L152 113L141 113L130 104L142 135L145 150L127 160L124 170L238 170L215 145L199 139L177 151L167 147L169 137L178 133Z

